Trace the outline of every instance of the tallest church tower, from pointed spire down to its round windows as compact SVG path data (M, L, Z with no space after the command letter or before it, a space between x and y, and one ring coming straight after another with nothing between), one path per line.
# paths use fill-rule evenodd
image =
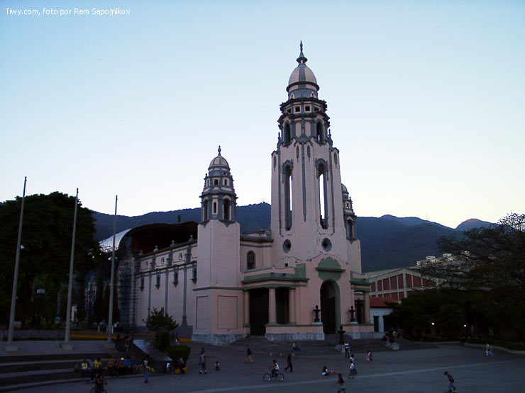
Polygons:
M294 266L323 254L348 263L339 151L333 147L326 101L301 43L277 120L272 152L274 264Z

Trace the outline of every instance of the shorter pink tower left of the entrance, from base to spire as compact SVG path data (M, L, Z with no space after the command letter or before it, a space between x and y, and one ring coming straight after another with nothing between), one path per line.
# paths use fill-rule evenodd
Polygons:
M243 337L240 239L236 222L237 195L228 161L211 160L201 193L198 227L197 280L193 338L228 343Z

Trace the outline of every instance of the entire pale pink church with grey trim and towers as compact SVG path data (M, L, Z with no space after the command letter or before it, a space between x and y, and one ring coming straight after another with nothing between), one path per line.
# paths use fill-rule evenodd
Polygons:
M340 326L355 338L372 334L356 216L341 183L326 101L306 61L301 45L270 158L270 228L241 234L232 171L219 147L204 179L198 224L157 228L165 239L172 235L161 248L141 247L133 239L144 244L148 236L138 236L139 229L127 237L118 268L126 285L118 297L130 326L140 329L153 308L164 308L179 334L208 343L248 335L319 340Z

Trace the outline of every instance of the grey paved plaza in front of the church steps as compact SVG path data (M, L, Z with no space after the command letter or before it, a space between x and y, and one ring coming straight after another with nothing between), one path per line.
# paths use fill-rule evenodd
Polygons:
M431 349L399 352L377 352L373 362L365 353L356 353L358 375L348 380L348 360L341 354L318 356L300 354L293 358L294 372L284 372L284 381L262 380L267 366L276 358L281 370L286 358L254 352L254 364L244 363L244 350L235 346L204 346L207 355L206 375L199 375L199 343L191 343L189 371L185 375L152 375L148 384L143 377L109 380L113 392L337 392L332 387L336 376L322 377L326 365L343 374L346 391L357 392L446 392L448 380L444 371L455 378L458 392L524 392L525 358L497 351L487 358L484 348L441 345ZM214 370L219 360L221 370ZM70 382L45 387L32 387L18 392L89 392L91 385Z

